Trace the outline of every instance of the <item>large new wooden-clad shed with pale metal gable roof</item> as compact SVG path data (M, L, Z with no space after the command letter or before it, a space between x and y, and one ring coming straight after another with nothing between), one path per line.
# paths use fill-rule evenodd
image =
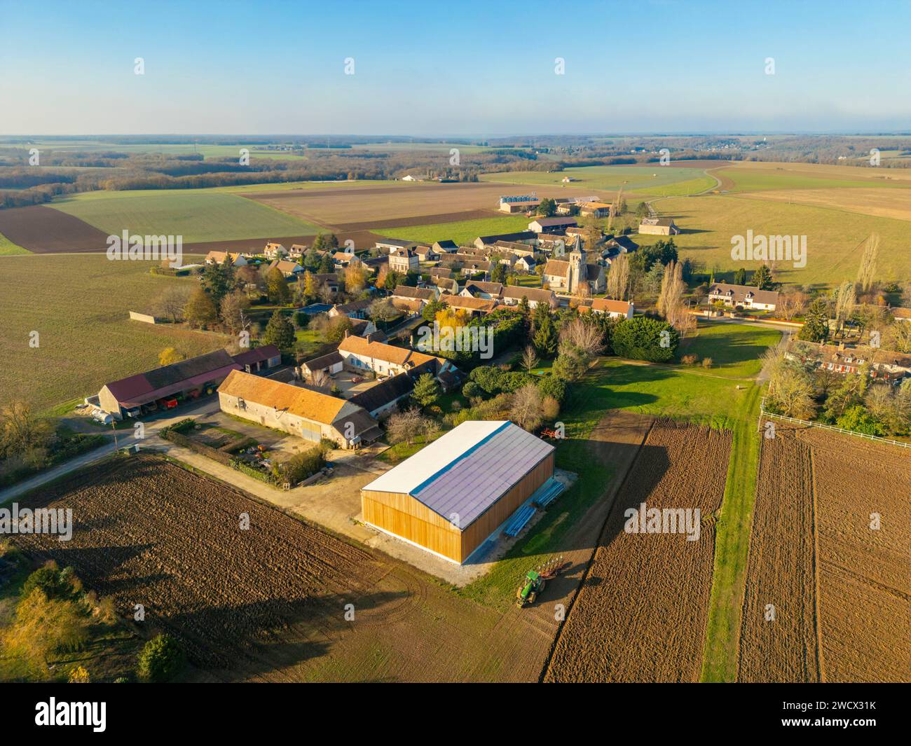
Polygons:
M470 421L361 490L365 523L458 564L554 474L554 447L511 422Z

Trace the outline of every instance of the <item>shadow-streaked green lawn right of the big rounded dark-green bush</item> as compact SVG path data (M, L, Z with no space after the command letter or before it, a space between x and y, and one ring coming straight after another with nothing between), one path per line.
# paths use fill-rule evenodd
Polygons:
M695 334L681 342L678 355L697 355L700 363L710 357L706 373L754 378L763 367L765 348L781 338L782 332L754 324L700 322Z

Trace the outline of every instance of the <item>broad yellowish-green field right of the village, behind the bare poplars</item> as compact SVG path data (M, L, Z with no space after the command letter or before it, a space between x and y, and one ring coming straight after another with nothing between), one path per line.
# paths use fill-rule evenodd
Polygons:
M723 173L720 172L720 173ZM770 199L728 195L674 198L660 201L662 216L672 217L681 228L674 236L681 257L700 261L706 271L736 271L749 262L731 258L732 236L804 235L806 265L776 263L776 279L783 282L834 284L854 280L860 265L858 247L873 232L880 235L877 275L883 281L911 276L911 247L906 220L889 220L809 205L787 204ZM638 236L637 242L652 243L660 237Z

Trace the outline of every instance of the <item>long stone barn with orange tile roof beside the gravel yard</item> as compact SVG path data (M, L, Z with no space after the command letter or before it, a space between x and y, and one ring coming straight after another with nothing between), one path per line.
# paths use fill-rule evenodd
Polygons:
M326 438L343 448L357 448L383 434L357 404L241 371L232 371L219 386L219 405L222 412L312 443Z

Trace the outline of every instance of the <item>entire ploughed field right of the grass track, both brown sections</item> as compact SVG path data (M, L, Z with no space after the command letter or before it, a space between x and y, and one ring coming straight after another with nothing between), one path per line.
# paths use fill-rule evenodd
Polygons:
M781 422L762 447L739 679L911 680L905 451Z

